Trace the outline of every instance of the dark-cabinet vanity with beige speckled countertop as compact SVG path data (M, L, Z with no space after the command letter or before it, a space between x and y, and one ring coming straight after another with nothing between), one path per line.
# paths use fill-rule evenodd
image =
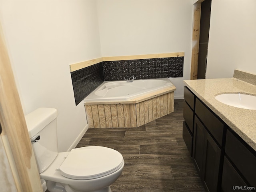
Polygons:
M206 191L255 191L256 110L223 104L215 96L256 95L256 85L239 75L184 82L183 138Z

